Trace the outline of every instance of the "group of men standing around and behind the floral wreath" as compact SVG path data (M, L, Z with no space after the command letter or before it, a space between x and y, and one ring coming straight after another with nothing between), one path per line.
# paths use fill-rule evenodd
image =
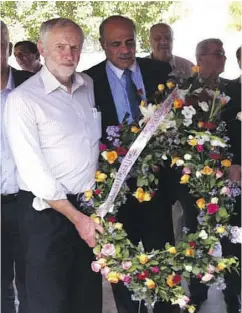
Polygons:
M105 140L107 126L120 124L126 113L130 121L137 119L141 98L150 99L169 75L191 73L192 62L172 54L173 32L167 24L151 27L146 58L136 57L136 28L129 18L110 16L99 31L106 60L77 73L82 29L69 19L48 20L37 45L15 44L13 53L23 69L17 71L8 65L12 44L1 21L2 313L16 312L14 281L19 313L102 312L101 277L90 264L95 234L103 228L82 212L77 196L95 183L99 141ZM241 67L240 58L241 48ZM220 84L226 62L222 41L200 42L196 60L199 75ZM240 181L241 124L235 116L241 111L241 77L227 85L231 101L221 119L227 122L234 154L228 178ZM129 239L135 244L142 240L148 251L174 243L182 226L196 231L194 199L179 186L174 192L174 181L172 169L164 165L152 200L139 203L128 196L118 212ZM233 223L239 225L240 217ZM224 247L225 254L240 257L240 247L228 242ZM228 274L226 282L228 313L237 313L240 278ZM112 288L119 313L147 312L121 282ZM190 292L199 308L207 287L193 280ZM169 302L155 304L154 313L168 312L180 309Z

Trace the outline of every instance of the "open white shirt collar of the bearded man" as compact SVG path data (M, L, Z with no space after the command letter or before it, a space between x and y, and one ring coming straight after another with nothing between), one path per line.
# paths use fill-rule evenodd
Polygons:
M57 78L49 71L46 65L42 66L39 73L40 73L40 77L42 78L46 94L49 94L58 88L61 88L67 91L66 86L62 85L57 80ZM72 83L71 92L73 93L76 89L78 89L79 87L83 85L86 86L86 81L82 78L80 74L75 72L73 75L73 83Z

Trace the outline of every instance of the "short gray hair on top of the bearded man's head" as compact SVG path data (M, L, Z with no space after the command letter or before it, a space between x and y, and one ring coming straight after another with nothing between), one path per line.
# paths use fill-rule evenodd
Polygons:
M81 27L73 22L72 20L68 18L53 18L51 20L48 20L46 22L43 22L40 26L40 40L44 41L47 33L53 28L53 27L66 27L66 26L73 26L75 27L81 35L82 40L84 40L84 34L81 29Z

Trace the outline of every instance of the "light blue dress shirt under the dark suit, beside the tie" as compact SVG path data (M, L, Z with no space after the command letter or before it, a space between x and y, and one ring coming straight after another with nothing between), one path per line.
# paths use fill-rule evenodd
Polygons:
M136 85L137 90L142 90L141 99L146 99L143 78L141 75L140 67L135 62L130 68L132 72L132 79ZM129 113L129 123L132 122L132 115L130 104L125 88L125 79L123 77L124 70L114 66L110 61L106 63L106 72L108 76L109 85L111 88L114 104L116 107L119 123L122 123L126 113Z

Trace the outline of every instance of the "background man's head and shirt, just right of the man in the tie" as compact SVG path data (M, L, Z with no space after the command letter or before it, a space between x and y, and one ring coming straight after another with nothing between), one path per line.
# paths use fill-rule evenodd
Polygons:
M172 75L189 77L192 73L193 63L187 59L172 54L173 31L170 25L158 23L150 29L151 59L169 62Z

